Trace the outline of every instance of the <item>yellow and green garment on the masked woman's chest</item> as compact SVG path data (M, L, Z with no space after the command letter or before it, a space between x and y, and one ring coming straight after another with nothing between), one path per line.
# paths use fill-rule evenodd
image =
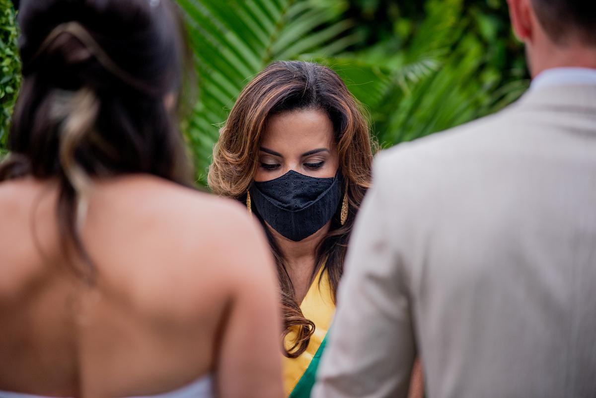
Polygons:
M284 357L285 395L290 398L308 398L311 395L319 359L325 349L325 337L335 313L329 275L322 271L323 268L319 270L300 304L305 318L315 323L315 332L311 336L308 348L297 358ZM290 332L286 337L288 342L286 345L291 346L289 342L294 341L294 338L296 338L296 332Z

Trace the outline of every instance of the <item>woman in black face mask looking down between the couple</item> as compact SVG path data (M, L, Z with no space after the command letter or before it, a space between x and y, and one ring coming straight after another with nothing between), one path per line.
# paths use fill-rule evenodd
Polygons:
M342 79L299 61L257 75L221 130L209 184L246 203L268 235L281 285L287 396L308 397L314 382L373 149Z

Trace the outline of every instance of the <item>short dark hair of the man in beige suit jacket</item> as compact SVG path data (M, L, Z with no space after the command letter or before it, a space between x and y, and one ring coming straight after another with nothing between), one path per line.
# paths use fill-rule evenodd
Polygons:
M532 0L540 24L555 43L596 46L596 0Z

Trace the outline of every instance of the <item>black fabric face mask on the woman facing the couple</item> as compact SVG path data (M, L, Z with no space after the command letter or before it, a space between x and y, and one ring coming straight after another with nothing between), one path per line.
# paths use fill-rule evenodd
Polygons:
M294 242L308 238L336 213L342 198L340 173L314 178L290 170L271 181L254 182L250 197L275 231Z

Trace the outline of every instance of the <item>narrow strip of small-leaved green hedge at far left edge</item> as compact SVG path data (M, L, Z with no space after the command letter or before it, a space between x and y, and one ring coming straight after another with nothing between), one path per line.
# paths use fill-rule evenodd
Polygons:
M0 0L0 157L6 153L8 126L21 82L15 11L10 0Z

